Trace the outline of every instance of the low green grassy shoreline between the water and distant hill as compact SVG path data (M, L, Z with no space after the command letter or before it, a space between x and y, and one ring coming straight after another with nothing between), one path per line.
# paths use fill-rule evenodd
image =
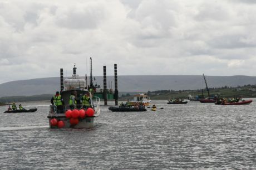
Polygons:
M188 99L188 95L198 96L202 95L202 90L157 90L157 91L147 91L146 94L152 100L167 100L172 98ZM134 94L138 92L120 92L119 100L132 99ZM210 95L218 95L221 97L243 97L243 98L253 98L256 97L256 85L244 85L237 87L224 86L221 88L210 88ZM204 90L204 96L208 95L207 91ZM26 101L43 101L51 100L51 94L44 95L33 95L33 96L8 96L0 98L0 105L5 105L11 102L26 102Z

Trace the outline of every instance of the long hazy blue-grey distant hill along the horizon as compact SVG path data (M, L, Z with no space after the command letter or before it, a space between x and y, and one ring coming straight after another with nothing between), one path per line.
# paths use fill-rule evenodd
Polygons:
M95 83L103 84L103 76L95 76ZM206 76L209 87L256 84L255 76ZM114 76L107 76L107 86L114 86ZM205 88L202 75L127 75L118 76L118 88L123 92L147 92L155 90L196 90ZM32 96L54 94L60 90L60 78L41 78L10 81L0 84L2 96Z

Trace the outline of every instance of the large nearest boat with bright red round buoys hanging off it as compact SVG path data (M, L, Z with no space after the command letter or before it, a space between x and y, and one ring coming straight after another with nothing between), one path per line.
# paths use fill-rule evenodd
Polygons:
M76 105L72 109L69 105L70 95L76 91ZM90 93L84 79L79 78L76 74L76 65L74 64L73 75L71 78L65 79L63 84L63 69L61 69L61 96L64 101L63 111L57 112L55 105L50 105L48 114L50 128L92 128L97 117L100 116L100 99L93 96L91 100L92 108L82 109L82 96ZM93 102L94 101L94 102ZM95 105L94 105L95 104Z

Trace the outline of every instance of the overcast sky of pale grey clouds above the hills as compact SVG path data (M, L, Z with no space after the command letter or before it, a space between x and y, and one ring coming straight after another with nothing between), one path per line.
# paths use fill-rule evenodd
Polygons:
M253 0L0 0L0 84L93 75L256 76Z

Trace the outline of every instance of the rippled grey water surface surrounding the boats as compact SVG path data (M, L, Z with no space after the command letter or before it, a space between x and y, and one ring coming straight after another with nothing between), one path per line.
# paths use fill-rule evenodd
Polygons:
M102 106L95 128L84 130L49 129L49 103L23 103L35 113L1 106L0 169L256 169L256 100L166 102L153 101L164 107L155 112Z

